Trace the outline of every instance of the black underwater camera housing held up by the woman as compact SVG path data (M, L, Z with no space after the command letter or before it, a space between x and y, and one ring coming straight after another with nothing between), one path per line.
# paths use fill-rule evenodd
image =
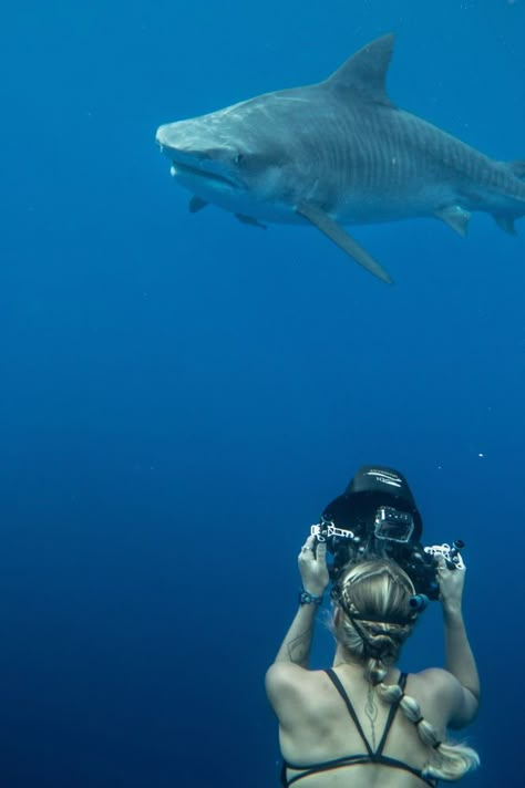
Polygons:
M343 495L329 504L311 526L317 541L333 556L329 567L336 582L344 567L359 559L389 558L406 572L415 588L411 604L423 609L439 599L437 559L463 569L461 540L423 547L423 522L404 477L392 468L364 466Z

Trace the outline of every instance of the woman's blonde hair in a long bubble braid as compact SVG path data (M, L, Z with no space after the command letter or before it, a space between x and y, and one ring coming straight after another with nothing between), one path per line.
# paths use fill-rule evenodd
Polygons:
M338 642L364 665L366 680L379 697L399 706L431 748L424 777L457 780L480 764L477 753L462 743L442 742L421 714L415 698L398 684L384 684L389 667L412 634L418 613L410 608L415 593L409 576L393 561L367 560L347 568L334 587L333 629ZM338 614L339 613L339 614Z

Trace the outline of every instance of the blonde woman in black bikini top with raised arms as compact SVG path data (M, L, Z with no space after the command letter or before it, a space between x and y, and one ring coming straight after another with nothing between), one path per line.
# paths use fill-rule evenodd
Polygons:
M462 615L464 568L436 559L446 670L397 667L420 614L411 606L415 588L391 557L360 556L332 588L332 667L311 671L313 621L330 582L326 559L326 541L310 536L299 553L299 610L266 675L282 786L422 788L460 779L478 765L471 747L446 736L474 719L480 702Z

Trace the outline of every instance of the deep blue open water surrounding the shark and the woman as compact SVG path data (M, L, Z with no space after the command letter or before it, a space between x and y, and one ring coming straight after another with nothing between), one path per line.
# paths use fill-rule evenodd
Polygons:
M394 102L525 156L523 0L3 9L2 786L275 786L296 553L370 462L408 476L426 543L467 542L464 785L522 785L523 221L357 228L389 288L313 229L191 216L154 144L390 30ZM434 605L403 664L441 661Z

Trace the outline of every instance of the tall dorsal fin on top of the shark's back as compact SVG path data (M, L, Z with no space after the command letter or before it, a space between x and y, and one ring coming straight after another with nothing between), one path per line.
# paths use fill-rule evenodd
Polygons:
M366 101L394 106L385 90L393 44L393 33L375 39L349 58L323 84L338 91L358 92Z

